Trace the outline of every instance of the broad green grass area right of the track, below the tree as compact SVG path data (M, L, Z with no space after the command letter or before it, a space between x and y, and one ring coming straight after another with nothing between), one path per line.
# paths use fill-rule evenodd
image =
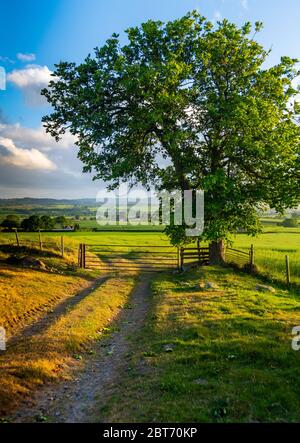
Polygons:
M211 281L218 289L200 290ZM205 268L153 282L151 309L101 416L110 422L300 420L299 295L256 290L259 280Z

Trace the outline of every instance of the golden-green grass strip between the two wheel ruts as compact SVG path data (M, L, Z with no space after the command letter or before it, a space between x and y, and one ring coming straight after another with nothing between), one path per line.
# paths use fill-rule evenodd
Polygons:
M9 416L38 386L83 368L95 341L128 301L134 282L134 277L107 279L38 334L9 346L0 355L0 416Z

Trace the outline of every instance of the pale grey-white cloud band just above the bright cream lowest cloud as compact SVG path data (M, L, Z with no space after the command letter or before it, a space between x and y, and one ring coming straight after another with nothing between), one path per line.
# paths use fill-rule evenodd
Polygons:
M14 125L0 123L0 136L13 140L15 144L22 148L31 147L41 151L72 148L76 141L76 138L72 134L66 132L57 143L50 134L46 133L43 126L32 129L25 128L19 123Z

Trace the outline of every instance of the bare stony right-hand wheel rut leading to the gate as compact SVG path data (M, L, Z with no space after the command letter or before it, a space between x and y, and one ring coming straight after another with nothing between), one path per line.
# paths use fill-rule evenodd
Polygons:
M22 408L16 413L15 422L33 422L39 414L56 423L104 420L99 410L127 369L126 355L130 350L127 337L138 333L145 321L151 277L151 274L140 274L131 294L131 309L121 312L116 332L96 344L95 354L88 359L82 372L69 382L42 389L36 394L33 407Z

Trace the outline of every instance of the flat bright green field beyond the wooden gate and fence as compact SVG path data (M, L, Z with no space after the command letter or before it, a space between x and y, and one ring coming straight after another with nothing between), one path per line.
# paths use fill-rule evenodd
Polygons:
M69 232L69 233L45 233L42 234L45 242L56 241L60 244L60 235L65 238L68 248L76 249L79 243L87 245L96 244L120 244L142 245L147 248L151 245L169 245L168 238L163 232ZM15 243L13 233L0 233L1 243ZM20 233L20 241L35 242L38 244L37 233ZM233 238L233 246L238 249L248 250L254 245L255 263L261 273L270 280L285 282L285 256L289 255L291 267L291 280L300 284L300 228L284 228L280 226L266 225L263 233L258 237L249 237L246 234L238 234ZM127 252L124 249L124 252Z

